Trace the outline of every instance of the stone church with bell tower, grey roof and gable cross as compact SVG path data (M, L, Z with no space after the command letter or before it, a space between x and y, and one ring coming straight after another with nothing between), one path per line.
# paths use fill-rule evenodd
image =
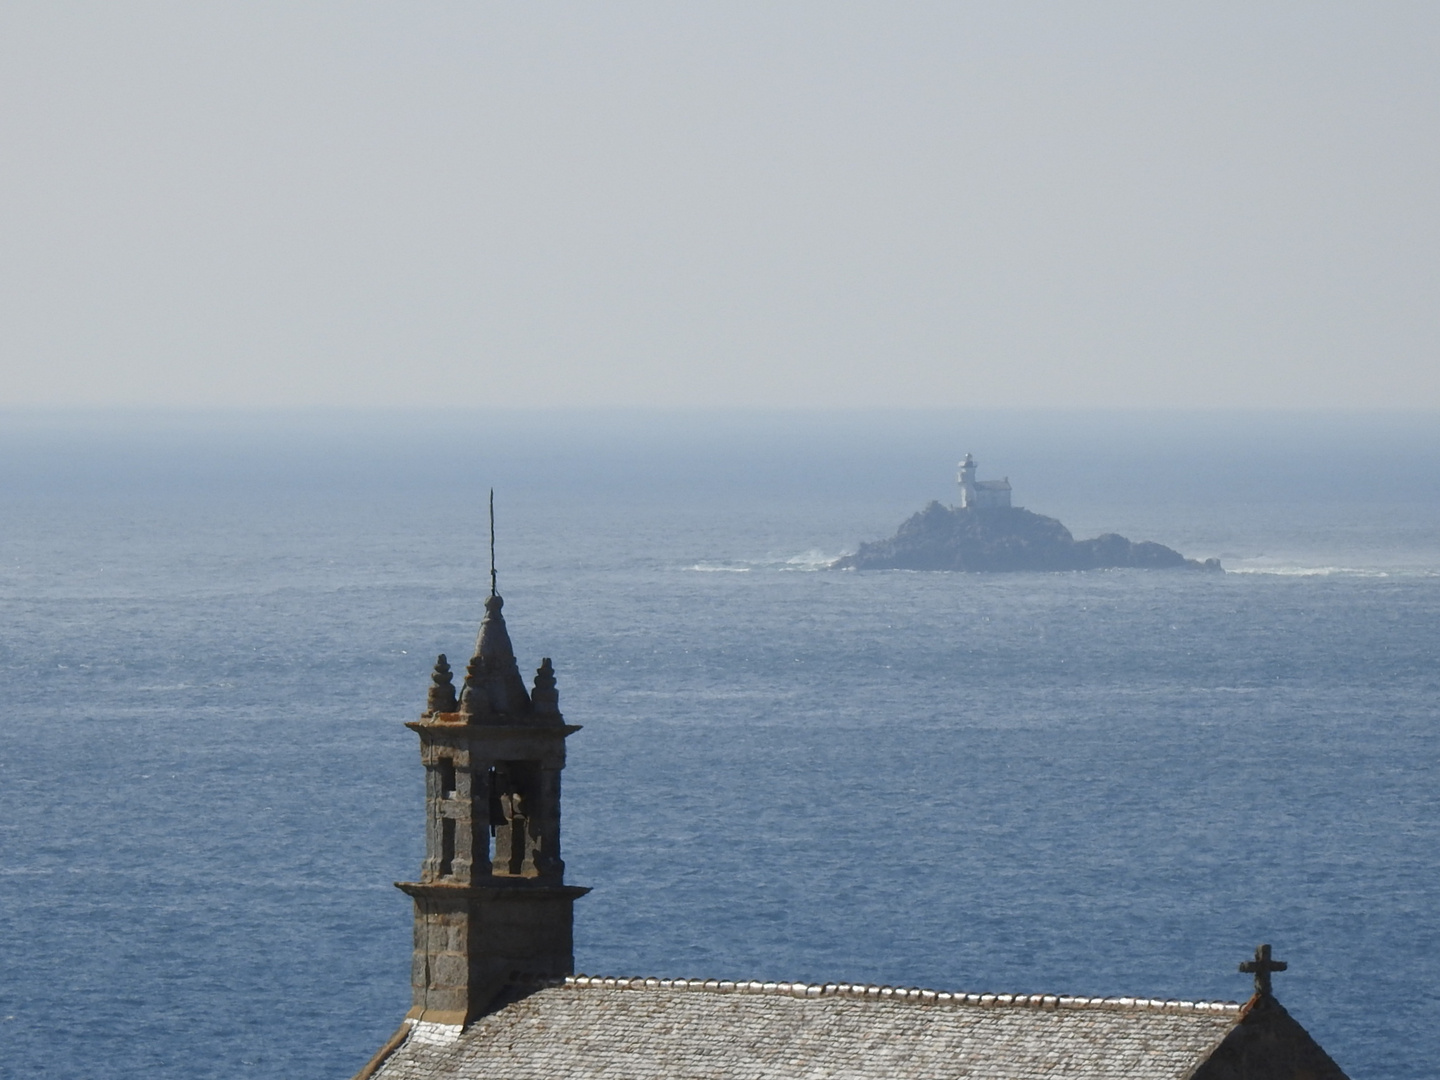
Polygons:
M459 693L441 655L408 724L413 1005L354 1080L1345 1080L1276 1001L1269 945L1244 1004L576 975L589 890L564 881L560 772L580 729L549 658L526 688L501 608L492 579Z

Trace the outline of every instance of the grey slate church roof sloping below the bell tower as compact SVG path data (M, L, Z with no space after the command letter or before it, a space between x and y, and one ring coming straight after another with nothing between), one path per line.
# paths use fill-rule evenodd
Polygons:
M1280 1035L1308 1076L1344 1080L1273 998L1256 1001L1269 1005L1267 1045ZM409 1021L405 1041L372 1067L376 1080L1198 1080L1253 1008L580 975L511 992L465 1028Z

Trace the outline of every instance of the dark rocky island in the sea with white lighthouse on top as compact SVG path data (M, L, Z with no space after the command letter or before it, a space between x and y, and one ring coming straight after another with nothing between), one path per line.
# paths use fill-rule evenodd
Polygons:
M1220 570L1218 559L1187 559L1151 540L1106 533L1076 540L1053 517L1009 505L1009 481L976 481L975 461L960 462L960 505L930 503L893 537L860 546L835 570Z

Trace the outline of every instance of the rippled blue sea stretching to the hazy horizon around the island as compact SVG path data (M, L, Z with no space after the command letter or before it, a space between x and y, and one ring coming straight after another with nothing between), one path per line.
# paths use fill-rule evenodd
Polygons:
M537 387L543 400L543 387ZM1225 573L835 572L955 462ZM1244 999L1440 1060L1440 418L0 413L0 1076L344 1080L490 585L586 973Z

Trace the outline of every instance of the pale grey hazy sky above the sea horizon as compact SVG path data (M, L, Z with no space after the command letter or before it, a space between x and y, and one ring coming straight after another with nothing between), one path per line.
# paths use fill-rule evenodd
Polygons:
M0 7L0 405L1440 409L1440 4Z

